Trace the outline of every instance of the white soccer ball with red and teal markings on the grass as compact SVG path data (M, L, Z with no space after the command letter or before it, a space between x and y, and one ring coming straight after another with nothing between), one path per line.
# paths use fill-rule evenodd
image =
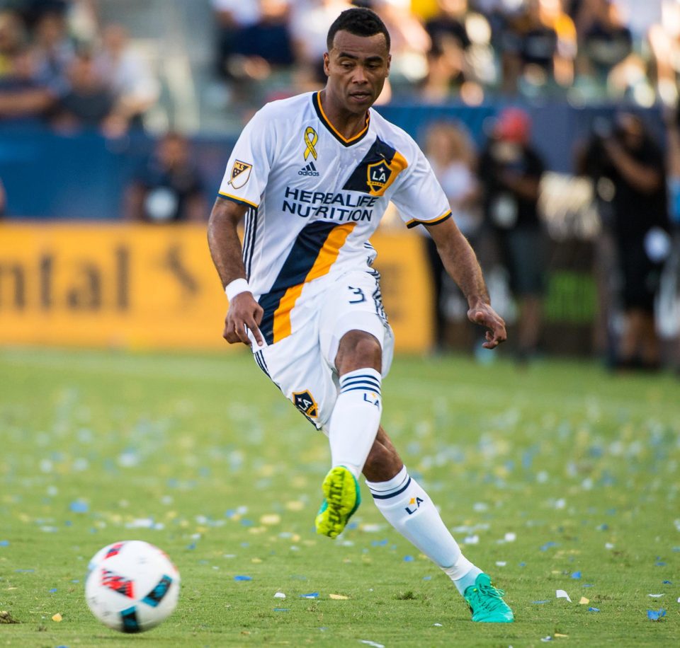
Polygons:
M159 548L142 540L104 547L88 569L87 605L113 630L145 632L168 618L177 605L177 568Z

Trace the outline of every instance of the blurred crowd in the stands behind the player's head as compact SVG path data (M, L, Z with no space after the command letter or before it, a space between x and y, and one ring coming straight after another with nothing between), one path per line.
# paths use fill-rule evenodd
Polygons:
M0 0L0 117L234 128L323 83L325 34L352 5L392 34L381 103L677 101L677 0Z

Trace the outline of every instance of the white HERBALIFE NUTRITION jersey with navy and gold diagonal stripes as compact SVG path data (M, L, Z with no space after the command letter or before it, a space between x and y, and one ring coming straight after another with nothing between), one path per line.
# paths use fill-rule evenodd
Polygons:
M345 139L319 93L256 113L234 146L220 196L249 206L243 261L268 344L295 330L298 300L345 272L370 269L376 253L369 238L390 200L409 227L450 216L407 133L371 109L363 130Z

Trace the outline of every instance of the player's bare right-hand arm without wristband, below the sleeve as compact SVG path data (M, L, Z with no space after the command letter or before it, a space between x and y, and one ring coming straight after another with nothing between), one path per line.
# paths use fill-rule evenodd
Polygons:
M427 231L437 245L446 272L458 284L467 299L467 305L470 307L467 318L488 329L487 341L482 346L494 349L507 338L505 322L491 307L489 292L475 250L472 250L467 238L460 232L453 219L427 226Z

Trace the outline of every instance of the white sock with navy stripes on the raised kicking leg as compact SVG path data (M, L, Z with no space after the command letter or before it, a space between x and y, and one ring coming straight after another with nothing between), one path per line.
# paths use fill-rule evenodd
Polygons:
M331 463L344 465L358 478L378 434L382 414L381 376L356 369L340 376L340 395L329 422Z

